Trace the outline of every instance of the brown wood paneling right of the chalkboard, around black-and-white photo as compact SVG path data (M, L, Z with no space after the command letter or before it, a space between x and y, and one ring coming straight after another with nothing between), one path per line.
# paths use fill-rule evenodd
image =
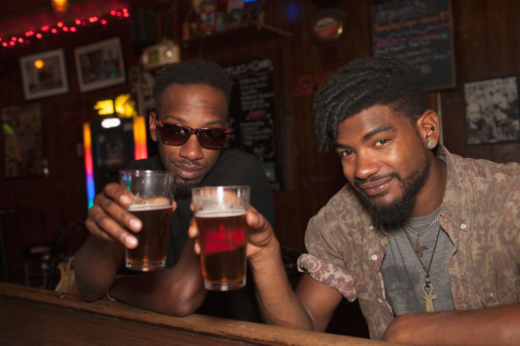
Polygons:
M514 0L452 2L457 88L440 92L444 143L453 153L520 162L520 143L465 145L462 83L520 74L520 3Z

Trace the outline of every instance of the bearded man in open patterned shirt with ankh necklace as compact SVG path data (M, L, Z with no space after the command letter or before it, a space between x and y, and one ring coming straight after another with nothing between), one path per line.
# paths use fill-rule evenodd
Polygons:
M314 108L348 182L309 221L295 292L269 224L248 214L266 321L323 331L344 297L359 300L372 339L518 343L520 165L450 154L420 72L395 58L350 62Z

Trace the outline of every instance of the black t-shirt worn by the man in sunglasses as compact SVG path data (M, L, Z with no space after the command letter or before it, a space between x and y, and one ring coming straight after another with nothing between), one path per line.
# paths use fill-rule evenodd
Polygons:
M134 161L128 169L165 170L158 155ZM275 205L272 192L265 171L254 156L238 150L222 151L215 166L204 177L200 185L249 185L251 187L250 204L264 215L271 225L274 225ZM191 197L183 199L177 204L177 209L172 214L171 237L168 241L166 257L167 268L174 267L178 262L188 239L189 222L193 217L190 204ZM253 277L249 268L244 288L227 292L209 291L197 313L233 320L262 322L256 302Z

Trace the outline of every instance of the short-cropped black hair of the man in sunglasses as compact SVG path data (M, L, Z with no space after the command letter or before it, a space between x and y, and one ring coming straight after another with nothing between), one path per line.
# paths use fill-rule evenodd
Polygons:
M164 90L172 84L208 85L220 89L226 96L227 107L231 102L233 82L218 63L209 60L193 59L166 64L155 79L155 111L159 116Z

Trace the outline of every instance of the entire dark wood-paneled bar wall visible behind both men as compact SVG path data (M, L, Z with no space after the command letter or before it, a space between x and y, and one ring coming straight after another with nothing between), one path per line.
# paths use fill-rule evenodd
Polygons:
M314 16L322 10L311 0L271 0L266 5L266 22L292 33L286 38L265 30L245 30L220 34L181 44L183 59L205 58L221 64L243 60L279 57L280 83L277 98L280 128L284 143L285 180L282 191L275 191L276 233L282 245L304 251L304 234L309 218L327 203L345 183L340 162L333 153L321 153L313 133L313 95L296 97L291 88L294 78L311 75L318 84L337 68L360 56L371 54L370 2L341 1L335 7L348 19L340 41L341 57L323 61L320 46L309 34ZM486 158L497 162L520 161L520 143L465 145L462 82L520 72L520 5L514 0L453 0L454 55L457 87L427 95L431 107L441 111L444 143L462 156ZM158 23L163 36L180 38L180 24L186 15L186 2L180 2L168 25ZM290 14L290 15L289 15ZM158 18L161 18L158 16ZM60 228L86 217L83 158L76 156L75 145L82 142L82 123L89 120L94 100L128 92L127 83L80 94L74 70L73 48L112 36L121 36L127 68L135 65L131 26L121 23L104 29L93 28L71 38L59 36L27 48L2 50L8 69L0 79L0 105L24 102L18 59L37 51L65 50L70 92L38 100L43 106L45 152L48 178L3 178L0 174L0 208L27 207L27 211L4 220L11 281L21 282L23 249L34 243L50 242ZM340 87L340 86L339 86ZM437 104L437 99L440 100ZM439 108L440 105L440 108ZM2 152L0 142L0 152ZM0 166L0 171L3 167Z

